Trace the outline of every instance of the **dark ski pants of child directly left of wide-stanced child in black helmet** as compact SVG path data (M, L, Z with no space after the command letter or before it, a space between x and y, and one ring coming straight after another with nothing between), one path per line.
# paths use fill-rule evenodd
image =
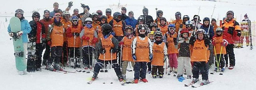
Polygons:
M94 47L86 46L82 48L83 53L83 65L85 67L90 68L92 66L92 54L94 51Z

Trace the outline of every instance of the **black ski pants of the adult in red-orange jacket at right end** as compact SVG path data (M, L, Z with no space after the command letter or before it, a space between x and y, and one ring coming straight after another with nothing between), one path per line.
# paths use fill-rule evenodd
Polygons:
M226 46L226 52L227 52L227 54L224 55L226 65L228 65L228 60L229 60L229 65L235 66L236 59L235 59L235 54L234 54L234 44L228 44ZM229 57L229 59L228 59L228 57Z

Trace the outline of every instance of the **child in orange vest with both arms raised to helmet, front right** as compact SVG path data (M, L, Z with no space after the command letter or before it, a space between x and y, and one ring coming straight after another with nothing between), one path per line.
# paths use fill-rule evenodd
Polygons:
M204 29L198 29L196 35L193 35L189 41L190 45L193 46L193 52L191 61L193 62L192 74L193 80L191 83L199 81L199 71L202 74L201 84L208 84L208 60L207 50L209 49L210 40L206 36Z

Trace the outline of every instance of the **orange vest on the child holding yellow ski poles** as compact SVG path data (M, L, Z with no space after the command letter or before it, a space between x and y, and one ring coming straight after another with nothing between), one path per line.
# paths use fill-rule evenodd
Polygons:
M220 43L223 42L223 37L222 37L222 36L220 36L220 37L214 37L214 38L213 38L213 41L214 41L214 43L215 43L215 45L214 45L215 50L214 50L214 48L213 48L213 50L214 50L214 55L215 55L215 54L226 54L226 47L220 45ZM222 46L222 50L221 50L221 46ZM221 53L220 53L220 50L221 50Z

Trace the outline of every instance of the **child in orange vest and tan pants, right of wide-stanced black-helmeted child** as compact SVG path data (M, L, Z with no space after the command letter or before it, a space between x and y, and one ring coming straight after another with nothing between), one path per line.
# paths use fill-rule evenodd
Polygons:
M126 37L123 38L123 41L120 41L119 46L122 48L122 77L126 80L126 68L128 67L128 63L132 63L132 67L134 67L134 60L132 59L132 40L134 39L132 34L133 28L131 25L125 26Z

